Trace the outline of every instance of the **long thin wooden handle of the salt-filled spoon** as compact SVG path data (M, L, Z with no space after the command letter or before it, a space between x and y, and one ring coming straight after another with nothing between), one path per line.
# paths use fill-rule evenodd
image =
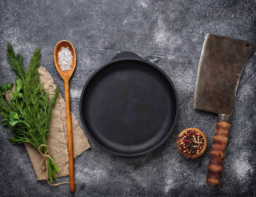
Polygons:
M66 101L66 118L67 118L67 142L68 142L68 159L69 159L69 175L70 175L70 192L75 192L75 173L74 173L74 153L73 153L73 137L72 122L70 111L70 88L69 80L64 81L65 101Z

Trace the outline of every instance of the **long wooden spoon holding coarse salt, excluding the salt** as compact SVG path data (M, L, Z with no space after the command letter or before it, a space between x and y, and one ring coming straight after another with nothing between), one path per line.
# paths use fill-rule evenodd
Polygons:
M71 70L62 71L58 64L58 52L61 47L68 47L73 55L73 62ZM72 137L72 122L71 122L71 111L70 111L70 88L69 81L76 67L76 52L73 44L70 41L59 41L54 49L54 63L58 73L61 75L64 81L65 89L65 101L66 101L66 116L67 116L67 142L68 142L68 158L69 158L69 175L70 175L70 192L75 192L75 174L74 174L74 153L73 153L73 137Z

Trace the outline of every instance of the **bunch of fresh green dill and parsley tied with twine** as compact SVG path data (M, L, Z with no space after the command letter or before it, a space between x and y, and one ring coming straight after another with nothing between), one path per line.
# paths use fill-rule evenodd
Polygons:
M39 82L38 65L40 64L40 48L35 49L29 63L29 69L23 67L23 57L15 52L10 43L7 44L7 62L15 70L17 81L15 84L0 86L0 117L1 125L14 131L14 136L8 138L13 145L23 142L33 145L36 149L40 145L47 145L46 136L49 135L52 105L55 104L59 89L49 99L43 85ZM50 155L47 147L40 148L43 154ZM54 161L47 158L49 181L59 169Z

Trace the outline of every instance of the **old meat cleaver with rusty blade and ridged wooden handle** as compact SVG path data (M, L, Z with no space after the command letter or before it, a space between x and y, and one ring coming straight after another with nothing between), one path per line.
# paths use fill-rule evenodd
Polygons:
M230 116L244 64L253 52L249 41L207 34L195 84L194 109L218 114L206 183L220 184Z

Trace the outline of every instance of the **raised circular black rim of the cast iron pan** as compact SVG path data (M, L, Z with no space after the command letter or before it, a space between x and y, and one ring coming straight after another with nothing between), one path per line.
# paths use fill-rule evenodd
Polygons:
M126 61L126 60L132 60L132 61L140 61L140 62L143 62L145 64L148 64L152 67L154 67L155 69L157 69L158 71L160 71L165 77L166 79L169 81L169 84L171 85L173 91L174 91L174 94L175 94L175 101L176 101L176 115L175 115L175 120L173 122L173 125L172 125L172 128L171 130L169 131L168 135L166 135L166 137L158 144L156 145L154 148L151 148L147 151L144 151L144 152L141 152L141 153L137 153L137 154L120 154L120 153L117 153L117 152L114 152L114 151L111 151L111 150L108 150L107 148L103 147L102 145L100 145L95 139L93 139L93 137L90 135L90 132L87 130L87 127L86 125L84 124L84 119L83 119L83 116L82 116L82 100L83 100L83 97L84 97L84 91L87 87L87 85L89 84L90 80L93 78L94 75L96 75L97 72L99 72L100 70L102 70L103 68L115 63L115 62L118 62L118 61ZM158 67L157 65L149 62L149 61L146 61L142 58L118 58L118 59L114 59L114 60L111 60L109 61L108 63L104 64L103 66L99 67L97 70L95 70L91 75L90 77L87 79L86 83L84 84L84 87L83 87L83 90L82 90L82 93L81 93L81 96L80 96L80 101L79 101L79 114L80 114L80 119L81 119L81 122L82 122L82 125L84 127L84 130L86 132L86 134L90 137L90 139L97 145L99 146L100 148L102 148L103 150L113 154L113 155L116 155L116 156L121 156L121 157L137 157L137 156L143 156L145 154L148 154L149 152L151 151L154 151L155 149L159 148L168 138L169 136L171 135L172 131L174 130L174 127L177 123L177 117L178 117L178 96L177 96L177 92L176 92L176 89L174 87L174 84L172 83L171 79L169 78L169 76L160 68Z

